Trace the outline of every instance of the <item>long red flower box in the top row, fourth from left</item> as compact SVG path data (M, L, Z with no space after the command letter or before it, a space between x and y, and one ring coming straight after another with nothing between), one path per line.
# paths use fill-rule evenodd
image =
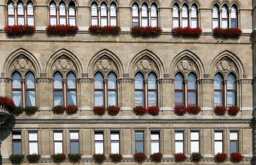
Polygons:
M141 36L154 36L162 33L163 29L159 26L134 26L130 29L131 34Z

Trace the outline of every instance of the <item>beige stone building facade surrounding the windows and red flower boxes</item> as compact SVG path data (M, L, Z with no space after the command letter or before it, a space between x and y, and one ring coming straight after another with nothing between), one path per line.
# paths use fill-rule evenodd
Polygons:
M13 14L9 4L13 3ZM24 14L18 14L20 3L23 4ZM28 6L33 10L33 17L29 15ZM56 7L56 15L51 14L52 3ZM61 15L61 5L64 10L71 10L68 6L74 6L75 21L69 20L71 15ZM122 31L117 36L99 36L91 34L87 29L92 24L93 4L97 6L96 11L100 13L102 4L107 8L107 22L111 22L111 5L116 6L116 24L121 26ZM143 7L152 10L152 5L157 7L157 25L163 28L163 33L158 37L134 37L129 31L133 25L133 5L138 7L138 22L143 24L141 12ZM143 6L144 5L144 6ZM8 7L9 6L9 7ZM174 37L171 29L174 27L175 17L174 6L179 8L180 18L178 23L183 22L183 6L186 6L188 17L187 23L192 25L192 6L196 6L197 26L201 27L203 33L199 38ZM219 39L212 35L214 24L214 6L218 8L218 15L221 17L225 6L227 9L227 26L233 26L231 13L235 6L236 26L241 28L243 33L239 39ZM63 6L62 6L63 7ZM59 12L60 11L60 12ZM98 13L100 23L103 20ZM182 151L188 155L192 151L192 133L198 133L198 150L204 154L200 164L215 164L214 154L216 142L222 143L223 152L230 155L230 142L232 133L237 133L238 152L244 155L240 164L255 164L256 154L256 130L254 128L255 109L255 58L256 53L256 1L255 0L0 0L0 52L1 52L1 77L0 95L13 97L14 74L20 76L20 104L26 106L27 97L27 75L34 76L35 105L39 111L32 117L24 114L19 117L11 117L0 127L1 154L3 164L9 164L9 155L13 151L14 137L20 138L21 153L29 154L31 143L30 133L37 135L36 144L38 154L42 155L42 161L38 164L53 164L50 155L55 153L55 133L61 133L62 151L70 153L70 133L78 133L79 153L83 154L81 164L94 164L92 154L99 145L96 145L96 135L103 138L103 152L111 153L113 133L119 135L119 152L124 155L124 159L119 164L136 164L133 154L136 152L136 134L143 134L143 151L151 154L155 149L151 143L152 134L158 135L159 151L163 153L163 161L160 164L176 164L174 154L180 151L177 148L177 141L182 141ZM30 16L30 17L29 17ZM32 20L36 27L33 36L7 37L3 27L10 24L18 24L22 19L24 23ZM23 18L24 17L24 18ZM56 18L55 18L56 17ZM73 21L79 26L79 31L75 36L49 36L45 28L56 19L56 23L61 23L61 17L66 21ZM30 19L30 20L29 20ZM151 20L151 18L147 18ZM223 17L223 20L225 18ZM23 21L23 20L22 20ZM136 22L136 21L135 21ZM149 21L150 22L150 21ZM148 25L150 25L148 22ZM31 23L31 22L30 22ZM99 24L100 24L99 23ZM153 20L151 20L153 23ZM224 26L225 22L218 19L219 26ZM68 104L68 75L72 73L75 77L76 104L79 111L76 115L66 114L56 116L52 114L51 108L55 103L54 76L58 73L61 76L61 92L63 94L63 104ZM98 117L92 112L95 102L95 82L96 74L102 76L103 104L108 105L108 84L109 75L112 73L116 77L116 104L121 107L120 113L116 117L107 114ZM137 103L135 77L137 74L143 77L143 104L148 106L150 98L148 96L148 78L150 74L156 77L156 104L160 107L160 115L152 117L149 115L135 116L132 113ZM189 75L196 78L195 104L202 108L197 116L185 115L178 117L174 114L175 106L175 77L177 74L182 77L183 84L183 104L189 104ZM215 106L215 82L216 74L221 75L221 85L223 86L223 105L228 105L227 84L229 75L235 78L235 104L241 108L238 116L224 117L216 116L213 113ZM176 80L176 81L175 81ZM16 90L17 91L17 90ZM17 98L16 98L17 99ZM140 100L140 99L139 99ZM30 100L31 101L31 100ZM178 134L182 138L178 139ZM216 139L220 133L221 139ZM55 134L55 135L54 135ZM231 135L232 134L232 135ZM32 134L31 134L32 135ZM193 135L194 136L194 135ZM231 141L230 141L231 139ZM182 146L179 145L179 146ZM97 147L95 147L97 146ZM176 146L176 147L175 147ZM113 146L112 146L113 148ZM25 160L25 164L28 162ZM70 164L68 161L64 164ZM104 164L113 164L107 159ZM149 158L143 164L152 164ZM192 164L190 159L184 164ZM229 159L225 164L232 164Z

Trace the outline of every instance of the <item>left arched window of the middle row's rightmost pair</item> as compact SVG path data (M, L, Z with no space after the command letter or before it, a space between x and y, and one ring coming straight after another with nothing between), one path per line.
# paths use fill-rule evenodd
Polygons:
M220 74L214 77L214 106L223 105L223 79Z

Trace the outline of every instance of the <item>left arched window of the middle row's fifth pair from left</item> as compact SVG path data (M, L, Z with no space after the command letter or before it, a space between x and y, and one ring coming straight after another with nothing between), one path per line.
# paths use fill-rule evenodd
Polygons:
M184 105L184 83L183 76L176 74L175 76L175 106Z

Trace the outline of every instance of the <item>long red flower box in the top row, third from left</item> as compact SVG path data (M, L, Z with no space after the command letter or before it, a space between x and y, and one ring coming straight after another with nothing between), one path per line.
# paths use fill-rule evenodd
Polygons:
M122 29L120 26L91 25L88 30L97 34L118 34Z

